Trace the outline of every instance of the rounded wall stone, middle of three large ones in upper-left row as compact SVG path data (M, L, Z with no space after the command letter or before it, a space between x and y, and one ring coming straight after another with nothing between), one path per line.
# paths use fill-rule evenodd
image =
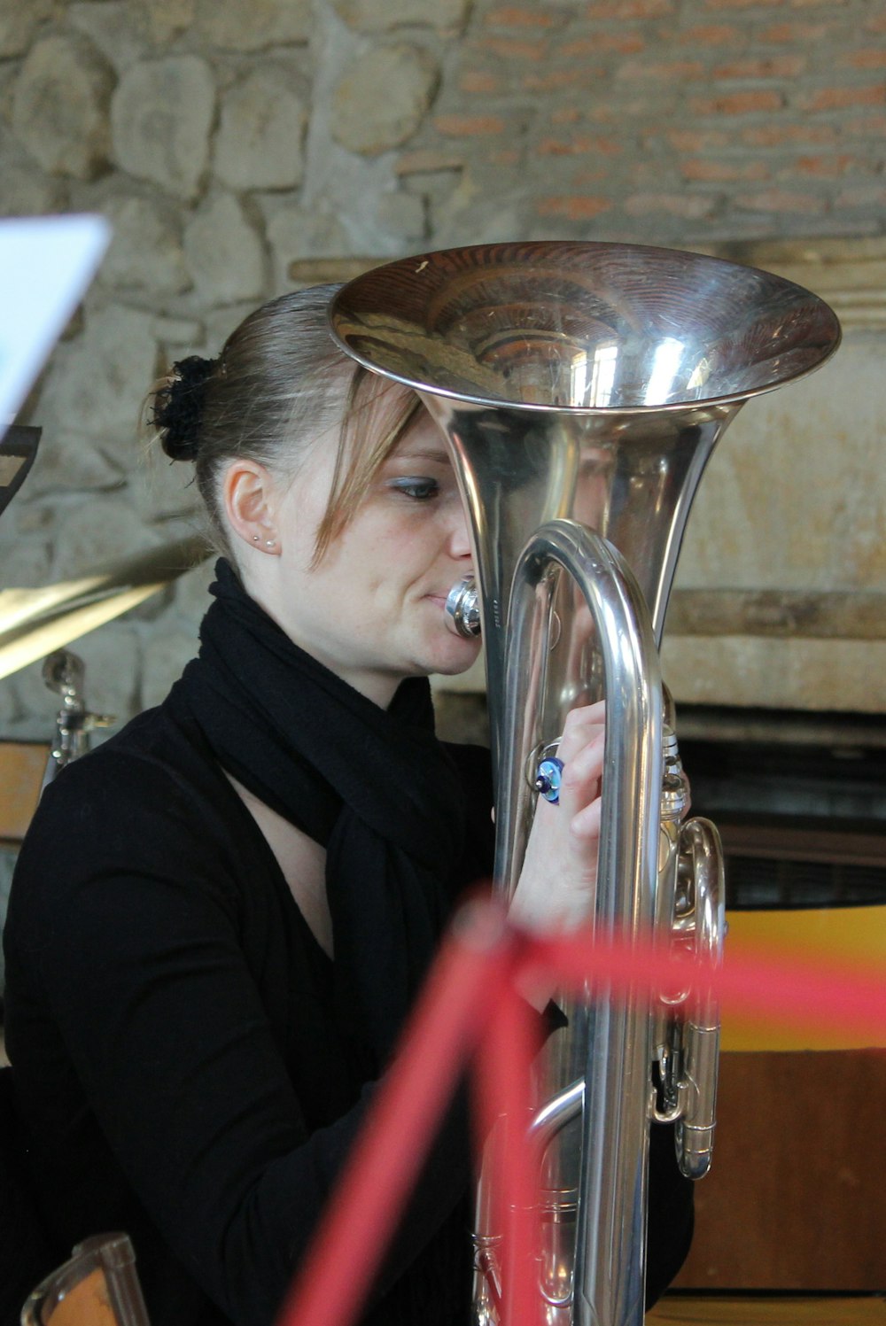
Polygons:
M129 69L111 101L122 170L168 194L196 196L210 155L215 81L206 60L168 56Z

